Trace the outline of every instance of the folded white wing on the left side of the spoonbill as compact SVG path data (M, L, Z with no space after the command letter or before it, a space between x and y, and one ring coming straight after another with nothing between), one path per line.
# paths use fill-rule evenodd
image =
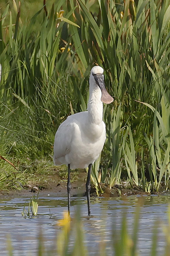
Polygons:
M70 118L60 124L54 140L54 163L63 164L61 159L70 152L72 136L74 136L74 122Z

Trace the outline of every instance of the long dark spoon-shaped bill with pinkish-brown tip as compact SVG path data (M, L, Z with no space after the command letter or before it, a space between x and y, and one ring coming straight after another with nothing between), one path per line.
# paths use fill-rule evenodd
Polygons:
M100 90L101 90L101 101L103 103L106 103L106 104L111 103L114 99L112 98L112 96L106 90L103 75L102 74L95 74L94 79L96 81L96 84L99 85Z

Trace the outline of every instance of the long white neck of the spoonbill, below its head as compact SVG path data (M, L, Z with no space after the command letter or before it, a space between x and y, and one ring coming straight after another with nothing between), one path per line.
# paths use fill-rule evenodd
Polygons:
M99 87L91 88L87 111L91 123L100 124L103 118L103 103L101 102L101 90Z

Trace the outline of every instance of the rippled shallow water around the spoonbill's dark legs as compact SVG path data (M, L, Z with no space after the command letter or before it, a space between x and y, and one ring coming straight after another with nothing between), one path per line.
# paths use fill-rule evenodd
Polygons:
M81 216L85 231L85 245L88 247L89 255L99 255L98 250L101 241L107 247L107 255L113 252L113 229L120 230L123 212L126 212L128 220L128 231L132 234L134 213L136 205L141 196L116 197L116 198L91 198L92 217L87 217L87 204L85 197L71 198L71 217L81 205ZM0 200L0 255L8 255L7 237L11 236L13 252L15 256L36 255L38 248L38 237L40 228L44 236L45 247L52 248L55 245L56 235L60 227L56 226L57 220L63 218L63 212L67 210L67 197L57 197L49 192L39 194L38 218L29 219L21 216L25 202L29 202L30 195L22 198L3 198ZM150 255L152 246L152 234L155 221L159 220L166 224L167 207L170 195L143 196L141 207L138 252L139 255ZM28 205L28 204L27 204ZM26 206L26 210L27 210ZM49 208L52 218L49 216ZM164 254L165 238L162 228L158 228L158 255ZM74 234L73 234L74 235ZM70 239L70 247L74 244L74 236Z

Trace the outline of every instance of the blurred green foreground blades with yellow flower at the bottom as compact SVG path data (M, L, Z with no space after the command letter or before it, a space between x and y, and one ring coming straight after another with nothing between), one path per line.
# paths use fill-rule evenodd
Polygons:
M138 200L138 205L134 207L134 221L133 227L130 227L131 232L129 232L129 224L126 211L121 214L121 228L117 229L116 225L112 227L112 248L108 252L107 243L105 241L100 241L100 245L96 248L96 254L93 255L115 255L115 256L137 256L140 255L138 251L138 244L140 239L138 239L138 233L140 228L140 207L142 206L141 200ZM92 218L92 217L91 217ZM155 222L153 228L153 234L150 237L150 248L147 248L148 256L156 256L159 250L159 230L162 229L165 238L165 248L162 256L169 256L170 250L170 206L167 211L168 222L162 223L161 220ZM83 221L81 218L80 208L76 209L75 216L70 218L67 212L63 213L63 219L57 221L57 226L60 227L60 230L57 233L54 244L51 245L51 250L46 250L45 242L43 238L43 232L39 230L39 237L37 238L37 256L87 256L90 255L88 251L88 244L85 242L85 236L88 236L88 233L84 232ZM104 225L104 223L102 224ZM105 229L103 229L105 230ZM144 234L143 234L144 235ZM105 233L103 233L105 237ZM71 238L71 240L70 240ZM91 238L92 239L92 238ZM71 241L74 241L73 244ZM22 244L20 244L22 249ZM148 252L149 251L149 252ZM8 252L10 256L14 256L12 250L12 243L10 238L8 239ZM144 253L145 251L141 251ZM31 256L31 254L28 254ZM35 255L35 254L34 254Z

